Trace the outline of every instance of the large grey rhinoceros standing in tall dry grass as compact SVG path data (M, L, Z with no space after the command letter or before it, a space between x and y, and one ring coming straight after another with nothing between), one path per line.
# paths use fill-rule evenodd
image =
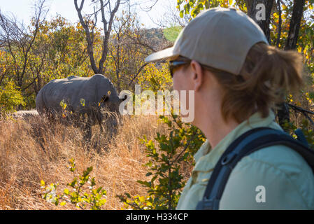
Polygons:
M80 123L80 118L85 119L83 129L87 133L85 138L92 137L92 125L99 124L110 112L118 112L119 104L127 99L120 99L110 79L101 74L92 77L69 76L67 78L50 80L43 86L36 96L36 110L39 115L49 115L50 118L59 116L62 119L64 111L72 123ZM115 127L117 117L110 116L108 123Z

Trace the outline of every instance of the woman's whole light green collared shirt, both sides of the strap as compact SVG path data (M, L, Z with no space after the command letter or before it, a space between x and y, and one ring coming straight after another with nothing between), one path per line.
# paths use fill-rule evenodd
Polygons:
M254 127L282 130L270 110L267 118L254 113L213 150L206 140L194 155L196 164L176 209L196 209L222 153L232 141ZM299 153L287 146L259 149L242 158L231 171L220 209L314 209L312 169Z

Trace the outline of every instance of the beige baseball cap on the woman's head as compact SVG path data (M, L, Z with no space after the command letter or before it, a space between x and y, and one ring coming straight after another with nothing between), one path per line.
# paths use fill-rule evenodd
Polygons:
M269 44L262 29L235 8L204 10L180 31L171 48L155 52L145 62L174 59L179 55L215 69L240 73L255 43Z

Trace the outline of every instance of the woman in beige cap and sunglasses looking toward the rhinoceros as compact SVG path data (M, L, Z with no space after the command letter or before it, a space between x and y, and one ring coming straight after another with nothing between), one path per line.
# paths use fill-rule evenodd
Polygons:
M147 62L170 60L174 90L194 90L193 125L207 140L177 209L196 209L226 148L255 127L282 130L272 109L302 84L302 58L272 47L262 29L234 8L200 13L172 48ZM262 189L262 191L260 190ZM220 209L313 209L314 176L292 148L269 146L245 156L232 170ZM262 196L261 196L262 194Z

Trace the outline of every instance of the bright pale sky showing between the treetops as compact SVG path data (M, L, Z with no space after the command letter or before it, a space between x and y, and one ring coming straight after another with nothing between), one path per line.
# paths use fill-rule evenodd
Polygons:
M136 1L136 0L135 0ZM133 2L135 2L133 1ZM175 3L176 0L171 0ZM28 24L31 19L31 15L34 12L34 2L35 0L0 0L0 10L2 13L13 13L15 17L24 21L25 24ZM141 23L145 25L145 27L157 27L150 18L159 18L160 15L164 13L165 5L169 0L159 0L157 4L152 8L152 10L148 13L141 10L141 8L145 8L145 6L151 6L152 1L150 0L137 0L140 5L137 6L136 12L138 13L138 18ZM80 1L78 1L80 3ZM83 8L86 10L85 12L92 12L92 8L88 7L90 1L85 1L85 5ZM169 4L168 4L169 5ZM48 19L52 16L56 15L56 13L62 15L64 18L70 20L71 22L78 21L78 15L76 13L76 8L74 7L73 0L47 0L45 6L50 7L50 11L48 13ZM141 6L141 8L140 8ZM90 9L90 10L88 10Z

